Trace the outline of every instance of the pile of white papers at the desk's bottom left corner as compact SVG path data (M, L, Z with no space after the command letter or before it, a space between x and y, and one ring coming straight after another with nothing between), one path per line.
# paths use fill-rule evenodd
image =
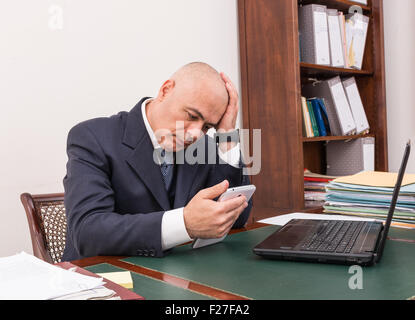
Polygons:
M25 252L0 258L0 300L45 300L94 289L102 278L62 269Z

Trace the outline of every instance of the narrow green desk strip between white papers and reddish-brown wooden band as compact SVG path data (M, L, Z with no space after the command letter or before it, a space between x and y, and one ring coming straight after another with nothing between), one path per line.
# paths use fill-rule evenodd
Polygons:
M84 267L94 273L126 271L108 263ZM130 271L131 272L131 271ZM146 300L210 300L210 297L172 286L166 282L155 280L135 272L131 272L133 290Z

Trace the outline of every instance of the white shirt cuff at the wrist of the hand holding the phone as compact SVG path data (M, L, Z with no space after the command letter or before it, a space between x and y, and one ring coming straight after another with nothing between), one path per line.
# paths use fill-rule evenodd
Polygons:
M166 211L161 220L161 247L163 251L192 241L184 224L183 209Z

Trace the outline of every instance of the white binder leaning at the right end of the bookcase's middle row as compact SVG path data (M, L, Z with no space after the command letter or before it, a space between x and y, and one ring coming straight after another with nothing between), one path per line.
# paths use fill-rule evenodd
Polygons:
M367 121L365 108L363 107L355 78L351 77L344 80L343 87L347 95L347 100L349 101L350 109L352 110L354 122L356 124L356 133L368 133L370 129L369 122Z

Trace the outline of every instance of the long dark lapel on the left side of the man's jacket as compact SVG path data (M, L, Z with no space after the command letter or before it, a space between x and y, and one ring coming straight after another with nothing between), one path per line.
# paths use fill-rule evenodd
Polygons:
M153 160L154 147L144 125L141 113L143 98L130 111L127 118L123 144L132 148L127 163L140 177L154 198L163 208L170 210L170 202L161 176L160 166Z

